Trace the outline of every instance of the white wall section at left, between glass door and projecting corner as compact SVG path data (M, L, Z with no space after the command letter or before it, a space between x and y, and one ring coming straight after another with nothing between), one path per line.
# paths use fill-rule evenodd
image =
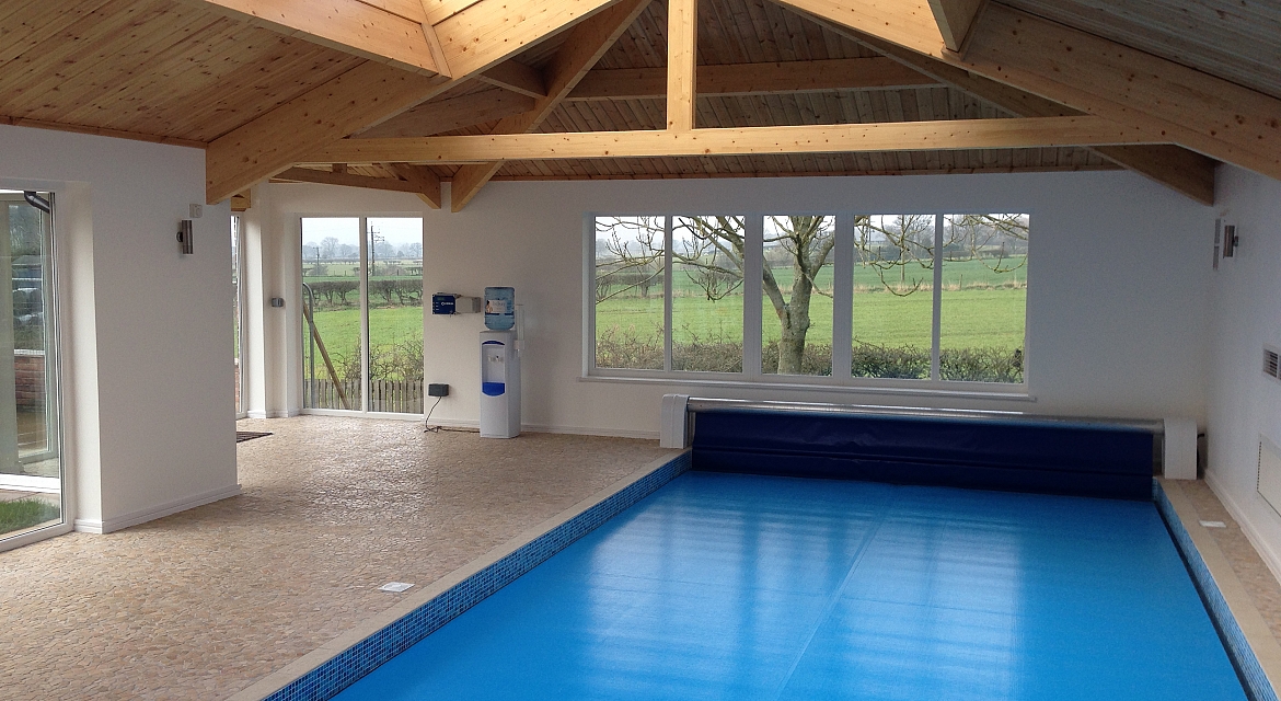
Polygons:
M53 190L77 527L111 531L236 484L228 205L195 255L196 149L0 126L0 187Z

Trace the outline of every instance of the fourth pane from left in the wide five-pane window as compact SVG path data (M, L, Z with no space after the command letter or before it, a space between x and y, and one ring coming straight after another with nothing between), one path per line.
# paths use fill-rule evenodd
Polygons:
M934 215L854 218L854 377L930 378Z

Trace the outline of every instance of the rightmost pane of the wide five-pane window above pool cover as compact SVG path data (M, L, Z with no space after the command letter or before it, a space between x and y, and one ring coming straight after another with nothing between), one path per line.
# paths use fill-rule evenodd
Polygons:
M1024 381L1029 227L1026 214L944 218L943 379Z

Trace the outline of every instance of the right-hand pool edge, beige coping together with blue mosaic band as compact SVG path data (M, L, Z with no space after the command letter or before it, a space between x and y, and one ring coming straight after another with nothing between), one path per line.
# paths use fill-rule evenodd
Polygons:
M1250 601L1218 543L1196 518L1196 510L1177 481L1153 481L1153 501L1187 563L1205 607L1222 634L1232 665L1241 673L1253 701L1277 701L1281 643Z

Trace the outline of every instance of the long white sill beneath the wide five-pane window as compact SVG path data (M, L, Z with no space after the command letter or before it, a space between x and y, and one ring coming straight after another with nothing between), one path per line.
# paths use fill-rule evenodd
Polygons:
M1026 384L1012 386L1011 390L989 390L975 387L983 383L949 383L963 384L962 387L940 387L939 383L930 382L921 387L885 386L885 384L833 384L824 383L825 378L815 378L815 382L797 382L798 378L762 377L761 379L715 379L708 377L673 377L657 374L652 377L638 375L612 375L612 374L587 374L578 378L579 382L616 382L623 384L666 384L666 386L694 386L715 387L722 390L788 390L801 392L838 392L845 395L890 395L904 397L951 397L951 399L979 399L993 401L1036 401L1036 397L1027 393ZM908 381L912 382L912 381ZM920 381L925 382L925 381Z

